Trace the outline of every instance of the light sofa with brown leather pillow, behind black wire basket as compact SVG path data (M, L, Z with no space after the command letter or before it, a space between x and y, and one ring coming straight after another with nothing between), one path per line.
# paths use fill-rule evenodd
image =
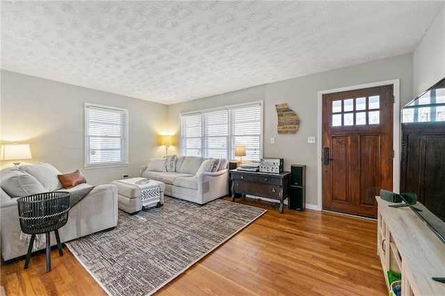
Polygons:
M28 252L29 241L20 239L21 229L17 208L19 197L51 191L79 192L81 189L92 187L87 183L79 183L73 188L65 189L58 175L62 174L48 163L22 165L19 170L0 171L0 244L4 261L26 255ZM67 224L58 229L60 242L110 229L117 224L118 189L111 184L98 185L70 208ZM51 231L51 245L56 244L54 231ZM42 244L38 249L44 247L45 244Z

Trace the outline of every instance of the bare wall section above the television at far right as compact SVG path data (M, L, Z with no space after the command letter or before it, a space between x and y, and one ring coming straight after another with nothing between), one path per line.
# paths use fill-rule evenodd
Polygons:
M445 5L414 51L413 65L414 97L445 77Z

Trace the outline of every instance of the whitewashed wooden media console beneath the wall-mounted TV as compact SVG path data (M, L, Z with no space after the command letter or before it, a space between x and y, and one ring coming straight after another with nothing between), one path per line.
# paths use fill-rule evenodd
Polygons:
M378 202L377 254L380 256L388 290L388 270L402 274L401 295L445 295L445 244L410 208L391 208ZM420 203L416 208L422 208Z

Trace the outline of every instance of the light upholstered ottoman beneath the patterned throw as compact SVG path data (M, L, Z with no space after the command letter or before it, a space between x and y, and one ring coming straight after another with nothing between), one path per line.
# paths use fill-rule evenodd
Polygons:
M125 181L137 181L143 178L132 178L132 179L124 179ZM165 184L161 181L150 180L151 182L158 183L159 185L159 202L155 202L154 204L149 204L146 208L149 207L159 207L164 204L164 191ZM142 190L138 185L133 185L129 183L121 182L120 180L112 181L113 185L118 187L118 208L127 213L136 213L143 209L143 201L142 201Z

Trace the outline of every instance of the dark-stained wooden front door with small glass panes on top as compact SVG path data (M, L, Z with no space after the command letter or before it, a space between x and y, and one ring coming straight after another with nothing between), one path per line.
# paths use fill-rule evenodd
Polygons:
M393 183L393 85L323 94L323 209L377 217Z

